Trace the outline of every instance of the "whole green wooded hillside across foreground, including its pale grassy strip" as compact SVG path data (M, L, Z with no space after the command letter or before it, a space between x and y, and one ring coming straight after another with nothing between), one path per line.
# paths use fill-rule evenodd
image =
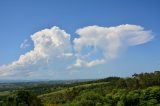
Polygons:
M52 86L52 87L51 87ZM41 102L42 101L42 102ZM132 77L37 86L12 92L0 106L160 106L160 71Z

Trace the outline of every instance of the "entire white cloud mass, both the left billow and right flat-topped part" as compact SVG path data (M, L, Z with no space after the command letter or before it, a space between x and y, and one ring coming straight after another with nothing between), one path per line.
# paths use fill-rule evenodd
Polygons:
M0 76L21 71L32 73L44 67L54 71L54 64L63 65L62 61L65 62L64 70L104 64L118 57L121 49L144 44L154 37L152 31L129 24L115 27L87 26L76 33L79 38L75 38L72 44L70 34L56 26L36 32L31 36L33 50L11 64L0 66ZM62 61L58 63L59 60Z

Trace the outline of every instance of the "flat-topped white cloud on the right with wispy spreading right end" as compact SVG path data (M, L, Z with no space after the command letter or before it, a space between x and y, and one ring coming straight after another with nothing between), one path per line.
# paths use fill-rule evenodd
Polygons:
M70 68L103 64L109 59L116 58L122 49L140 45L153 39L151 31L146 31L141 26L129 24L115 27L87 26L78 29L76 33L80 37L74 39L74 48L80 61L76 61ZM92 49L84 54L86 51L84 48ZM97 51L101 51L99 53L101 57L91 59L94 53L98 53Z

